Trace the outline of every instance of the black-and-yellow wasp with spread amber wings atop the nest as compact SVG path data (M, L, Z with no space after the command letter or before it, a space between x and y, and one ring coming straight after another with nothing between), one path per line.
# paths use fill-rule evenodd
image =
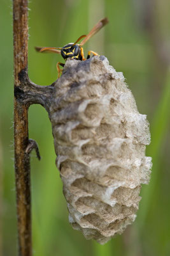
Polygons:
M72 58L75 60L82 60L85 61L90 58L90 54L93 54L93 56L99 56L97 52L89 51L87 54L87 59L85 59L84 51L83 51L83 45L94 35L96 34L101 28L103 28L104 25L108 23L108 19L104 18L99 20L97 24L92 28L92 30L87 35L82 35L76 40L74 43L69 43L64 45L63 47L36 47L36 51L39 52L55 52L58 54L61 54L62 58L64 60L67 60L67 58ZM80 40L84 38L80 44L77 44L80 42ZM58 78L60 77L60 73L62 73L62 69L60 69L59 66L64 67L64 63L57 62L57 71L58 71Z

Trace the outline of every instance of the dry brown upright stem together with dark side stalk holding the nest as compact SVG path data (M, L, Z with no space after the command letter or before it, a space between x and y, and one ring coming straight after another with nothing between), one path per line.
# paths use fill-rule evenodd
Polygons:
M27 40L27 0L13 0L15 182L18 255L20 256L32 255L29 163L29 152L32 149L28 135L28 108L33 103L39 103L48 109L46 95L49 97L53 88L53 86L38 86L29 81L27 76ZM36 151L38 152L37 148Z

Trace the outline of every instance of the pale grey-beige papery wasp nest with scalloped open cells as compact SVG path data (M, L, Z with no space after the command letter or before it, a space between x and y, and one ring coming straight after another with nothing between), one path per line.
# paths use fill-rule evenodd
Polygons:
M135 220L149 182L148 121L104 56L67 60L54 86L50 119L69 222L104 244Z

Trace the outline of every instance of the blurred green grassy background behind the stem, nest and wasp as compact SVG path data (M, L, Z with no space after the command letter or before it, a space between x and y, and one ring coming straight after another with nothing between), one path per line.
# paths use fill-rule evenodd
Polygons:
M153 157L152 178L142 188L136 221L101 246L71 228L62 182L55 166L52 128L41 106L29 109L29 137L36 140L39 162L31 156L32 238L34 256L170 255L170 1L32 0L29 3L29 77L48 85L57 79L57 54L39 54L34 46L74 42L96 22L110 23L85 45L104 54L124 72L139 112L148 115ZM1 0L0 255L17 255L17 218L13 162L12 3Z

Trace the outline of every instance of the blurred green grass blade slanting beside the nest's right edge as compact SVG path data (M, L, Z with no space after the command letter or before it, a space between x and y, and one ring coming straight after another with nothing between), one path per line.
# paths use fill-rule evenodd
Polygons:
M140 203L140 209L138 214L138 225L139 229L143 229L145 226L146 216L150 209L152 197L157 185L157 179L159 176L159 153L162 146L162 141L166 135L168 123L169 123L169 102L170 102L170 68L167 72L167 79L160 98L159 105L155 111L152 124L150 125L151 132L151 144L148 147L147 155L152 156L152 175L150 184L145 187L142 191L142 200Z

